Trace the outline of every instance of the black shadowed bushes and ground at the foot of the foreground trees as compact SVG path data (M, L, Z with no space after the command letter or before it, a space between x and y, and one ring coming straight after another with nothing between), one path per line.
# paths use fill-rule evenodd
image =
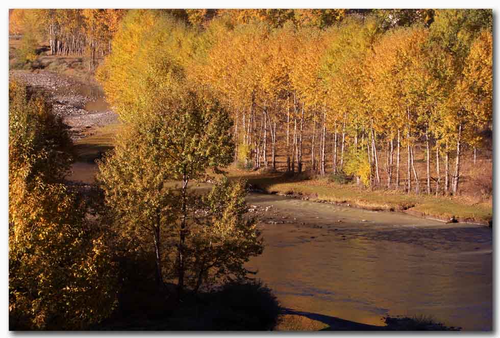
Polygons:
M179 301L176 285L158 291L152 257L120 262L123 285L112 316L91 330L251 331L271 330L281 308L260 281L228 283L212 291L186 292Z

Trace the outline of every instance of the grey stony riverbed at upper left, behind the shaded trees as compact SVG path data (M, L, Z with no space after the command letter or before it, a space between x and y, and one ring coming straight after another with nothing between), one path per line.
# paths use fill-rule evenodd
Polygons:
M95 86L49 71L12 70L9 77L45 93L53 104L54 113L69 126L73 141L118 120L104 100L103 92Z

